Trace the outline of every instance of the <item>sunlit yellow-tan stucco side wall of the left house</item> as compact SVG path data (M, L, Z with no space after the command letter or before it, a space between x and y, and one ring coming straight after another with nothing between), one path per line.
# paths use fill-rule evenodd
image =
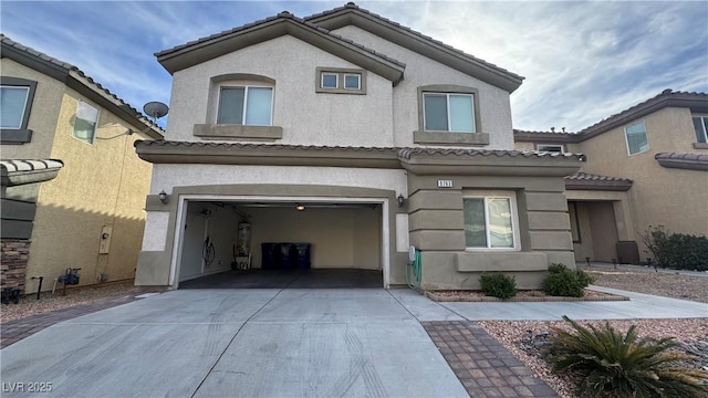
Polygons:
M77 100L92 103L72 90L61 97L49 155L62 159L64 167L40 188L28 277L53 280L66 268L81 268L81 284L97 283L103 272L108 273L110 281L132 279L152 169L137 157L133 143L145 137L124 135L127 124L98 107L95 143L75 139L72 132ZM98 254L104 226L113 227L110 253ZM51 287L52 283L43 285Z

